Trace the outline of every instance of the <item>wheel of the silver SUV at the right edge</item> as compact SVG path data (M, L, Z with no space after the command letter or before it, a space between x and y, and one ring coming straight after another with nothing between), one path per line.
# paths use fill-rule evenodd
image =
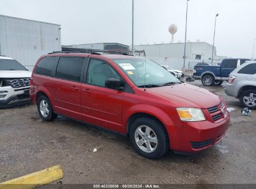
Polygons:
M256 90L242 91L240 94L240 103L249 109L256 109Z

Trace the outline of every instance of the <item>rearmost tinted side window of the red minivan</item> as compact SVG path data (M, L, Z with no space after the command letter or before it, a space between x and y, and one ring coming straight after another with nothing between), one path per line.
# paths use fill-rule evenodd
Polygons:
M54 76L59 57L44 57L37 64L35 73Z

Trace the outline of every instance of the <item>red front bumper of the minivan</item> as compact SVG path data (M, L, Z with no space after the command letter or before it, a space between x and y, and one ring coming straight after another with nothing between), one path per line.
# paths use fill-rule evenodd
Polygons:
M219 142L229 127L229 113L218 121L182 122L170 136L170 149L178 153L194 153Z

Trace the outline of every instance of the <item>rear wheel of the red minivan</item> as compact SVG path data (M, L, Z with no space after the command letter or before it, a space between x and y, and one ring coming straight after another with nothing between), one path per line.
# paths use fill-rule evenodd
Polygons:
M57 114L54 113L50 100L44 95L39 96L37 99L37 111L44 121L52 121L57 118Z

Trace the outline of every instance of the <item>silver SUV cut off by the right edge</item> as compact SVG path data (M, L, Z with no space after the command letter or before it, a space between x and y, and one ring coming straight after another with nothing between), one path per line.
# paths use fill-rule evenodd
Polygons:
M256 109L256 61L249 61L229 75L225 93L240 99L242 106Z

